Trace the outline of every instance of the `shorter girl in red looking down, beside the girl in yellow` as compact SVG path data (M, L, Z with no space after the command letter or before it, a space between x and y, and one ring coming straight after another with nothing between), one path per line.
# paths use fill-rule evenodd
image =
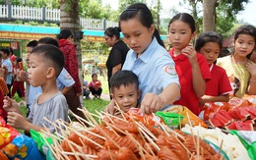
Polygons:
M228 102L232 91L230 82L223 68L215 65L223 48L223 37L214 31L200 34L196 40L195 49L207 60L212 79L206 82L205 95L201 97L200 105L206 102Z

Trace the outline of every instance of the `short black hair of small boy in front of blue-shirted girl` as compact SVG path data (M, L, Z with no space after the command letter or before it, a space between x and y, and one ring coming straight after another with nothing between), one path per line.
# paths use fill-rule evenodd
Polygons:
M118 71L110 79L110 86L112 91L114 88L119 88L121 85L127 86L130 84L135 84L136 88L139 89L138 77L132 71Z

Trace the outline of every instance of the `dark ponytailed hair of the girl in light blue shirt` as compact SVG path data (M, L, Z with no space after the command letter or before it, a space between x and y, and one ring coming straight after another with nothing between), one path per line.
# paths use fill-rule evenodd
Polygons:
M119 27L121 21L128 21L134 18L137 18L144 27L150 28L154 24L151 10L147 7L147 5L144 3L135 3L124 10L119 16ZM160 45L164 47L160 39L160 33L156 28L153 35L157 38Z

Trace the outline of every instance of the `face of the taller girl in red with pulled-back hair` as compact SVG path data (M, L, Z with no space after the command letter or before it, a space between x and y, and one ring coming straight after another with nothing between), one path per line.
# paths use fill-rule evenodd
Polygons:
M169 26L169 42L175 50L181 51L185 48L195 34L186 23L179 20L174 21Z

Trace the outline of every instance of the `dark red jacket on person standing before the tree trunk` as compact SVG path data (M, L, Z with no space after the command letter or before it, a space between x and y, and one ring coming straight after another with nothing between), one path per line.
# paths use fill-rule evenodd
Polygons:
M59 40L59 49L63 52L65 57L64 68L68 71L70 76L75 80L75 90L76 93L81 93L81 82L79 80L79 68L77 60L77 49L74 44L72 44L67 39Z

